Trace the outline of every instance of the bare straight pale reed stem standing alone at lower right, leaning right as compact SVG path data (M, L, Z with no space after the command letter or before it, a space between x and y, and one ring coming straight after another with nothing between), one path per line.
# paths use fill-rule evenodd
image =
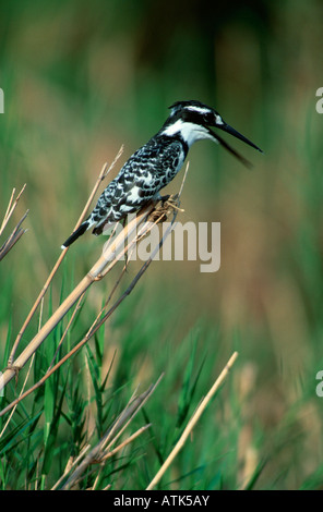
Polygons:
M160 470L157 472L157 474L152 479L152 481L148 485L148 487L146 488L146 490L152 490L154 487L156 487L156 485L158 484L158 481L160 480L163 475L166 473L166 471L168 470L170 464L174 462L174 460L176 459L176 456L178 455L180 450L183 448L186 441L188 440L188 437L190 436L190 434L192 432L192 430L195 427L196 423L199 422L200 417L202 416L202 413L205 411L210 400L212 399L212 397L215 394L215 392L218 390L220 385L226 379L226 377L227 377L229 370L231 369L232 365L235 364L235 361L236 361L237 357L238 357L238 352L234 352L234 354L229 358L228 363L226 364L226 366L222 370L220 375L218 376L218 378L216 379L216 381L214 382L214 385L210 389L208 393L206 394L206 397L202 400L202 402L198 406L196 411L194 412L194 414L192 415L192 417L189 420L188 425L186 426L186 428L184 428L181 437L179 438L178 442L176 443L172 451L170 452L170 454L168 455L168 458L166 459L166 461L162 465Z

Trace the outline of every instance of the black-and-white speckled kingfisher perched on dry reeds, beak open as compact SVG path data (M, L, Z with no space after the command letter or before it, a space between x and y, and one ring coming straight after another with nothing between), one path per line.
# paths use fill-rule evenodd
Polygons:
M94 234L101 234L107 224L123 220L153 198L162 198L159 191L179 172L190 147L196 141L210 138L248 166L249 162L210 126L223 130L262 153L251 141L229 126L216 110L201 101L177 101L169 108L170 115L159 132L129 158L117 178L101 193L92 214L63 243L62 248L71 245L88 229L94 228Z

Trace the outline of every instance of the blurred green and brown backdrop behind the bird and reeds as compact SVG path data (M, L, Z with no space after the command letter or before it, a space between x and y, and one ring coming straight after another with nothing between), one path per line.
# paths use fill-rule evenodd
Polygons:
M322 20L319 0L1 1L1 216L24 183L11 225L29 208L28 232L0 264L1 343L9 318L17 333L104 162L124 144L116 175L174 101L215 107L264 150L226 137L253 162L248 170L210 142L193 146L179 220L220 222L220 269L155 261L106 329L107 357L117 349L118 361L131 358L128 378L151 382L199 325L198 353L208 359L201 394L239 351L237 458L241 474L268 459L260 487L306 486L323 468ZM74 282L101 244L87 233L71 247ZM107 289L91 291L91 313Z

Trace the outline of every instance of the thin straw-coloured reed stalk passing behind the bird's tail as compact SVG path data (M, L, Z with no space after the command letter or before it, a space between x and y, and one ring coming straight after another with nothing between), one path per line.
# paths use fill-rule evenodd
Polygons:
M120 149L119 149L119 151L118 151L116 158L113 159L112 163L111 163L109 167L108 167L108 163L107 163L107 162L103 166L101 171L100 171L100 173L99 173L99 175L98 175L98 179L97 179L97 181L96 181L96 183L95 183L95 185L94 185L94 187L93 187L93 191L92 191L92 193L89 194L89 197L88 197L88 199L87 199L87 203L86 203L86 205L84 206L84 209L83 209L83 211L82 211L82 214L81 214L81 216L80 216L80 218L79 218L79 220L77 220L77 222L76 222L76 224L75 224L74 231L75 231L75 230L79 228L79 225L81 225L81 223L83 222L84 217L85 217L85 215L86 215L86 212L87 212L87 210L88 210L88 208L89 208L91 203L93 202L93 198L94 198L94 196L95 196L95 194L96 194L96 192L97 192L97 190L98 190L100 183L101 183L103 180L109 174L109 172L113 169L113 167L115 167L117 160L118 160L118 159L120 158L120 156L122 155L122 151L123 151L123 146L120 147ZM23 188L23 190L24 190L24 188ZM23 191L22 191L22 192L23 192ZM21 196L22 192L20 193L19 197ZM17 197L17 199L19 199L19 197ZM17 200L17 199L16 199L16 200ZM59 267L60 267L60 265L61 265L61 263L62 263L62 260L63 260L63 258L64 258L64 256L65 256L65 254L67 254L68 251L69 251L69 247L67 247L65 249L63 249L63 251L61 252L61 254L60 254L58 260L56 261L56 264L55 264L55 266L53 266L53 268L52 268L50 275L49 275L48 278L47 278L46 283L44 284L44 287L43 287L43 289L41 289L41 291L40 291L38 297L36 298L35 304L33 305L32 309L29 310L29 313L28 313L28 315L27 315L27 318L25 319L25 321L24 321L24 324L23 324L23 326L22 326L20 332L17 333L17 337L16 337L14 343L13 343L13 346L12 346L12 350L11 350L11 353L10 353L10 356L9 356L9 358L8 358L8 366L12 366L12 365L13 365L14 355L15 355L16 349L17 349L17 346L19 346L19 344L20 344L20 341L21 341L21 339L22 339L22 337L23 337L23 334L24 334L24 332L25 332L27 326L29 325L29 322L31 322L33 316L35 315L35 312L37 310L37 308L38 308L38 306L39 306L39 304L40 304L41 298L45 296L45 294L46 294L46 292L47 292L47 290L48 290L48 288L49 288L49 285L50 285L50 283L51 283L51 281L52 281L52 279L53 279L53 277L55 277L57 270L59 269Z

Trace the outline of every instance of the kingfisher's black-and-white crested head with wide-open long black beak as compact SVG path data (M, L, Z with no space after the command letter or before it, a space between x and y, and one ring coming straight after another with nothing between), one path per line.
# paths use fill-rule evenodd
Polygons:
M176 101L169 108L170 115L160 130L163 135L178 136L182 138L189 147L196 141L211 138L224 146L244 164L250 166L250 162L224 141L218 133L211 130L210 126L213 126L234 135L234 137L240 138L243 143L263 153L255 144L227 124L216 110L201 101Z

